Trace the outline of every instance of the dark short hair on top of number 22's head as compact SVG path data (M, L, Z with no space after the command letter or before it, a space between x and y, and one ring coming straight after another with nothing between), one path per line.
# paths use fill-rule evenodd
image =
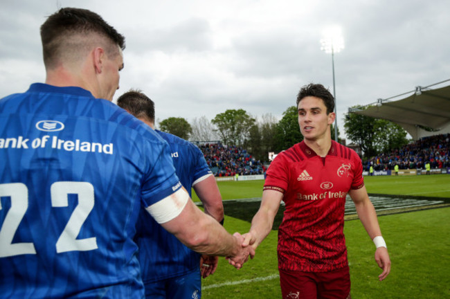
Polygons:
M49 16L41 26L44 63L57 55L62 38L74 34L96 33L125 49L125 37L107 24L100 15L82 8L61 8Z

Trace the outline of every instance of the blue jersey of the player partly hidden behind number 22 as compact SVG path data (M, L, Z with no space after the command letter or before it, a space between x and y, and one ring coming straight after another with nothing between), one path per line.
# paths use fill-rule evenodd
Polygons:
M181 184L191 195L192 183L212 174L201 150L182 138L156 132L168 141L175 170ZM144 284L189 273L199 268L200 255L159 226L145 210L138 220L136 242Z

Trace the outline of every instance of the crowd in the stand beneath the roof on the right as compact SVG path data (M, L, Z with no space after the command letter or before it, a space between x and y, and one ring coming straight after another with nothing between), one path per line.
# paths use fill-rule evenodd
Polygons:
M442 134L421 138L414 143L395 149L387 154L379 154L363 161L365 170L370 165L374 170L424 169L430 163L431 169L450 167L450 134Z

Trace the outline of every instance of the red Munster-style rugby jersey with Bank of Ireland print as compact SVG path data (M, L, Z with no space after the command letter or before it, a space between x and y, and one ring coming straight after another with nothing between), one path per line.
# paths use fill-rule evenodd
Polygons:
M325 158L304 141L272 161L264 190L283 192L278 268L325 272L348 264L343 235L345 197L364 185L361 158L332 141Z

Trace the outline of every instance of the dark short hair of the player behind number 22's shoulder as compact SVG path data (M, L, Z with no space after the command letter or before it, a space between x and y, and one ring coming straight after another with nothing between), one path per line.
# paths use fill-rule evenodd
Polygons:
M130 89L117 99L117 105L136 118L145 118L154 123L154 102L138 89Z

